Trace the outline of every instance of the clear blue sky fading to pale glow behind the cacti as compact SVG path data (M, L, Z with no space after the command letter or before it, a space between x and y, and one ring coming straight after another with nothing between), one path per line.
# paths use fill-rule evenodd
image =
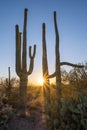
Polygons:
M27 49L37 45L30 82L42 75L42 23L46 23L49 73L55 71L55 31L53 11L57 13L60 36L60 60L87 61L87 0L1 0L0 1L0 77L15 72L15 25L23 30L24 9L28 8ZM28 52L28 51L27 51ZM27 66L29 66L27 54ZM64 67L63 67L64 68ZM65 68L67 69L67 67Z

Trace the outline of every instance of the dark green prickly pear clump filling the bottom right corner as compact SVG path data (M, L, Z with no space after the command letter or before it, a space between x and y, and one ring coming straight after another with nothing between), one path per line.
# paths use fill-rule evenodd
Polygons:
M78 100L61 98L47 115L52 130L87 130L87 96L78 93Z

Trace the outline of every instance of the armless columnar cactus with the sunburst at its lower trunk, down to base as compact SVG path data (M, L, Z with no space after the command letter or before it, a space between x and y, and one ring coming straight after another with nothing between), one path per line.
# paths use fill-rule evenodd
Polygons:
M50 82L47 78L49 75L48 71L48 62L47 62L47 49L46 49L46 25L45 23L42 24L42 70L43 70L43 78L44 78L44 84L43 84L43 91L44 91L44 97L45 97L45 111L47 114L49 112L49 108L47 105L50 105ZM48 109L47 109L48 108Z

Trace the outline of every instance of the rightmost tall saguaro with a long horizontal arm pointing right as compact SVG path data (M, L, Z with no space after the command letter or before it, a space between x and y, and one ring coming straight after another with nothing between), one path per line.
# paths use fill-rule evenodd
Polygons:
M60 52L59 52L59 33L58 33L58 27L57 27L57 20L56 20L56 11L54 11L54 27L55 27L55 35L56 35L56 44L55 44L55 72L52 75L49 75L49 78L56 77L56 86L57 86L57 98L60 99L61 96L61 71L60 66L62 65L69 65L72 67L84 67L82 65L76 65L69 62L60 62Z

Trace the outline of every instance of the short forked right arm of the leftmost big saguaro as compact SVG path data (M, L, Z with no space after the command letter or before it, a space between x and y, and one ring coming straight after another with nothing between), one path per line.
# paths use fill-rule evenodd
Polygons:
M35 54L36 54L36 45L34 45L34 51L33 54L31 55L31 46L29 47L29 57L30 57L30 67L29 67L29 71L27 72L27 75L30 75L33 71L34 68L34 58L35 58Z

